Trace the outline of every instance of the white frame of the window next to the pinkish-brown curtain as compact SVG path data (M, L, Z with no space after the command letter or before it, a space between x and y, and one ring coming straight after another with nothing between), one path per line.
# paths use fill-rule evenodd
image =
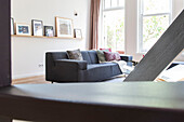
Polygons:
M124 0L124 5L123 6L119 6L119 0L117 0L117 6L111 6L111 1L113 0L110 0L110 8L106 8L106 9L105 9L105 0L102 0L102 3L101 3L101 6L102 6L102 9L101 9L101 17L100 17L100 23L101 23L101 26L100 26L100 33L101 33L100 36L101 37L100 37L100 40L101 41L98 41L98 45L101 48L106 48L105 46L105 33L104 33L104 29L105 29L104 28L104 12L116 11L116 10L126 11L126 6L124 6L126 5L126 0ZM126 37L124 37L124 40L126 40Z

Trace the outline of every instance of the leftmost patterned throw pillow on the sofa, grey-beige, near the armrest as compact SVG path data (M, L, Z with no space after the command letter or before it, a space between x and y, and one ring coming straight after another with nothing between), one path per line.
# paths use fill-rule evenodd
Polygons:
M80 50L66 51L69 59L83 60Z

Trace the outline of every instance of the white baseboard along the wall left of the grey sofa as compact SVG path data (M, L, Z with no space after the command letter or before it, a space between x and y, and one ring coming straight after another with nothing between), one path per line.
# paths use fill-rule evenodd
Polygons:
M44 72L37 72L37 73L27 73L27 74L17 74L17 76L12 76L12 79L22 79L22 78L28 78L28 77L37 77L37 76L43 76L45 74Z

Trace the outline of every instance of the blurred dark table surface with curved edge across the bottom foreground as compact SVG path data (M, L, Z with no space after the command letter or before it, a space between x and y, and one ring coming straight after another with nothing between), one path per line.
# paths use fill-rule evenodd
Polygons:
M184 83L14 85L0 89L0 114L43 122L184 122Z

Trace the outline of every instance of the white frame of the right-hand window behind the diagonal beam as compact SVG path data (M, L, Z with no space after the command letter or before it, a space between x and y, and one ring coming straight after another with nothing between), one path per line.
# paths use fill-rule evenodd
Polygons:
M143 51L143 19L144 17L148 17L148 16L160 16L160 15L168 15L169 16L169 24L171 24L171 21L172 21L172 0L169 0L170 1L170 9L169 9L169 12L160 12L160 13L154 13L154 14L144 14L144 0L139 0L139 23L137 23L137 28L139 28L139 31L137 31L137 53L141 53L141 54L145 54L147 53Z

